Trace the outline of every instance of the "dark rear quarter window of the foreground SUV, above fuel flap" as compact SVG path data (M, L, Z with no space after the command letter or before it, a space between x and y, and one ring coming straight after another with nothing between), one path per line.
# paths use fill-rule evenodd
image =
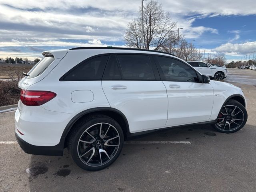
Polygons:
M68 72L64 81L101 80L108 55L98 56L80 63Z

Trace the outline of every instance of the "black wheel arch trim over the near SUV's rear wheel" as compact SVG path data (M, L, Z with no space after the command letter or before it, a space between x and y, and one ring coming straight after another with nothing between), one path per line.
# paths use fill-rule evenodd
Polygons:
M122 128L122 130L124 132L124 139L126 140L127 133L129 132L129 124L128 124L128 121L127 121L126 117L124 116L124 114L115 108L97 107L97 108L91 108L88 110L84 110L84 111L78 113L76 116L74 116L70 120L70 122L67 124L67 126L64 129L62 136L61 136L62 138L65 138L64 147L66 147L68 135L71 132L71 130L74 128L74 125L76 123L78 123L80 120L82 120L84 117L86 117L88 115L92 115L92 114L104 114L104 115L109 116L110 118L116 120Z

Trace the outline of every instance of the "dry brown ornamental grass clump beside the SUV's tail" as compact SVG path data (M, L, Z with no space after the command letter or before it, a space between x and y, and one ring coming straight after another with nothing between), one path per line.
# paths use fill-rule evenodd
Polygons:
M22 72L9 71L10 80L0 81L0 106L17 104L20 99L20 88L18 82L22 78Z

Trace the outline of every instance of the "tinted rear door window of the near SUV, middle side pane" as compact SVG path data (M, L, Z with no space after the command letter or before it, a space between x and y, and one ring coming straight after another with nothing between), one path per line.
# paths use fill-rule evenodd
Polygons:
M149 56L117 55L124 80L155 80Z

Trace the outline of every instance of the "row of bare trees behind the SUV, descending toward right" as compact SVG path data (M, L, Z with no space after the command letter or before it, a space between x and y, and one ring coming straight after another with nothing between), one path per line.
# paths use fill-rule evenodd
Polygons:
M173 22L170 14L164 12L162 4L151 0L143 6L143 42L141 41L141 7L138 17L134 18L125 30L124 40L130 48L154 49L168 52L185 61L208 60L209 63L224 65L224 55L216 54L214 58L204 58L203 52L198 52L192 41L188 42L179 33L177 22Z

